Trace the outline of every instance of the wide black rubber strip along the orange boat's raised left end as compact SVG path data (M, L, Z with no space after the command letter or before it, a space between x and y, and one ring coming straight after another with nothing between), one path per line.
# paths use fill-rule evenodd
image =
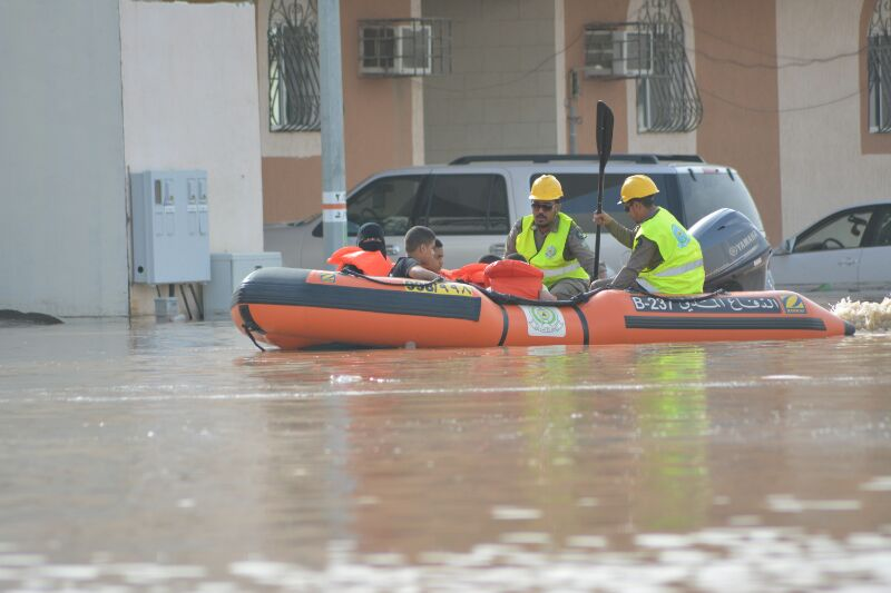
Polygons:
M266 274L260 274L268 269ZM238 305L284 305L322 309L361 310L477 322L482 307L478 296L381 290L310 284L306 270L263 268L242 283L233 299Z

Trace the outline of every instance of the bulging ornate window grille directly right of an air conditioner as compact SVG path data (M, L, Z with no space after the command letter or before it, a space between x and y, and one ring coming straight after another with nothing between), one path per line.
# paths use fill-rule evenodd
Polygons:
M695 130L703 119L684 43L684 23L675 0L646 0L638 12L652 34L653 68L637 78L637 129L640 132Z

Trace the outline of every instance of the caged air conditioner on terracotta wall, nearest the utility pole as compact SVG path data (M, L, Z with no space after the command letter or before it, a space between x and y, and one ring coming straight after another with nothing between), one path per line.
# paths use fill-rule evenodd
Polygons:
M425 76L433 71L430 24L363 24L360 50L365 75Z

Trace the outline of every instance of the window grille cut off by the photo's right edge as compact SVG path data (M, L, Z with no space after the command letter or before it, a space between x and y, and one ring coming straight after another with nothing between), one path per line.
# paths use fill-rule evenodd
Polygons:
M891 0L875 0L868 39L870 131L891 132Z

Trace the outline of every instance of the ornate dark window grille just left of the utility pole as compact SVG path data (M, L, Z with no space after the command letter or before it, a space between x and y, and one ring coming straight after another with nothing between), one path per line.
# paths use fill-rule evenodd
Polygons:
M267 34L270 130L320 130L316 0L273 0Z

